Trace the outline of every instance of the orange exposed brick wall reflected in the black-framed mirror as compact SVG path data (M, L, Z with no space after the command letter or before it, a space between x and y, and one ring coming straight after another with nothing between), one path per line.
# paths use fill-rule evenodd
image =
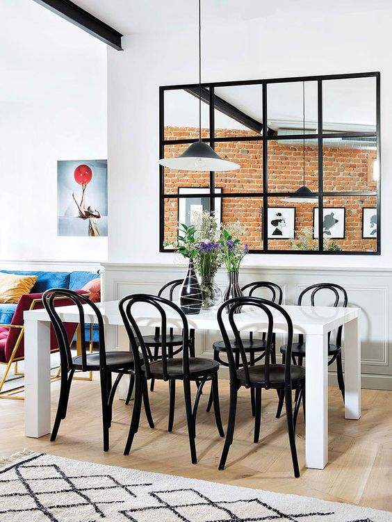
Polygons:
M222 198L222 222L240 220L247 227L243 238L251 248L261 249L262 199L252 197L252 193L263 190L262 161L263 144L256 141L235 141L238 136L254 136L252 131L237 129L217 129L217 136L233 137L234 141L218 142L215 150L222 158L240 163L240 170L215 172L215 186L224 193L250 193L249 197ZM165 128L165 139L197 138L198 129ZM209 136L208 129L202 129L202 136ZM165 147L165 156L178 156L188 145ZM325 145L323 150L324 190L354 191L375 190L375 184L368 182L368 162L375 152L359 148L343 148ZM283 175L282 175L283 174ZM291 144L278 140L268 142L268 190L271 192L293 192L302 185L303 146L302 142ZM318 148L317 140L305 143L305 177L307 186L318 190ZM208 172L179 172L165 169L165 193L177 195L179 187L209 187ZM313 227L313 207L317 204L293 204L289 199L270 197L269 206L295 206L295 230ZM368 197L341 197L324 199L324 206L345 207L345 238L336 239L342 250L375 250L375 239L362 238L362 209L375 207L376 199ZM165 200L165 239L174 240L177 235L177 199ZM272 239L268 248L287 250L288 239Z

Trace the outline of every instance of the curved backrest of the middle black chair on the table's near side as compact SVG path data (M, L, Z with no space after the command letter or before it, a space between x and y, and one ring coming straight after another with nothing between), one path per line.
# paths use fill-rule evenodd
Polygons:
M138 326L136 318L133 316L132 308L134 304L137 303L146 303L149 304L152 309L156 309L158 312L158 318L161 319L161 359L162 359L162 369L163 369L163 379L168 380L168 345L166 343L167 336L167 325L168 318L166 315L166 311L164 307L168 307L175 312L175 316L179 320L179 328L182 329L182 354L183 354L183 375L184 377L189 376L189 331L188 331L188 321L186 319L185 313L181 311L181 309L172 301L164 299L163 297L157 297L156 295L149 295L145 293L127 295L120 300L118 307L120 309L120 313L122 316L122 320L126 329L126 333L129 336L129 342L131 344L131 349L133 352L134 364L135 364L135 372L138 375L141 373L145 373L147 379L151 377L150 370L150 359L151 352L149 348L146 347L145 341L143 339L142 333L140 332L140 327ZM172 318L169 319L169 322ZM140 361L140 352L139 347L142 352L142 359ZM169 356L170 357L170 356ZM144 363L144 368L142 368L142 362Z

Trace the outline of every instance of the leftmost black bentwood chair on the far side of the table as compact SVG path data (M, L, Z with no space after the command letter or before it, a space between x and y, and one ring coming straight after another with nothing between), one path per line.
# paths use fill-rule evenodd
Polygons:
M162 286L161 290L158 292L158 297L162 297L163 293L169 293L169 300L173 301L174 290L177 286L180 286L183 282L183 279L174 279L174 281L170 281ZM162 336L160 333L159 327L155 328L155 332L153 335L145 335L143 336L143 340L145 341L145 347L147 350L151 351L150 361L158 361L161 359L160 351L162 345ZM166 335L166 346L168 347L169 357L173 357L177 355L182 350L182 335L174 335L174 329L170 328L169 334ZM177 348L177 350L173 350ZM191 357L195 357L195 330L190 329L189 331L189 349ZM154 353L152 352L154 350ZM155 380L151 380L150 390L154 391ZM132 387L129 387L129 394L126 398L125 404L129 404L132 395Z

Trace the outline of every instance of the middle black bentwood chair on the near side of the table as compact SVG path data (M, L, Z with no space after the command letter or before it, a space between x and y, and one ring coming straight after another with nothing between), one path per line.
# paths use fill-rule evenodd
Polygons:
M158 316L161 317L161 359L158 361L151 361L149 350L145 345L144 337L140 332L140 328L132 314L134 304L147 303L158 311ZM158 379L169 382L170 389L170 405L169 405L169 426L168 431L172 431L174 421L174 402L175 402L175 385L177 380L183 382L183 394L186 407L186 421L188 425L188 436L190 444L190 455L192 463L196 464L196 446L195 446L195 423L197 415L197 407L199 405L200 394L202 388L207 380L212 381L213 386L213 405L215 412L215 421L218 427L218 432L221 437L224 437L222 422L220 420L220 406L218 393L218 370L219 363L211 359L204 359L202 357L190 356L189 347L189 329L188 321L185 313L173 302L163 299L163 297L156 297L155 295L135 294L128 295L120 300L118 307L129 336L129 342L135 358L135 399L133 405L133 414L131 426L129 427L129 435L126 441L124 455L129 455L133 437L138 432L140 421L140 409L142 395L147 391L147 382L149 379ZM170 355L170 350L167 343L167 325L168 318L165 309L174 311L174 319L170 321L179 323L182 328L182 357L175 359ZM139 350L142 352L142 361L138 358ZM190 382L200 382L197 393L195 395L195 402L192 407L190 395Z

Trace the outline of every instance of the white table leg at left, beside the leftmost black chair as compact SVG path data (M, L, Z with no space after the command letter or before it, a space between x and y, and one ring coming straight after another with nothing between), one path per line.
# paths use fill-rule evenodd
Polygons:
M24 423L26 437L50 433L50 323L24 321Z

